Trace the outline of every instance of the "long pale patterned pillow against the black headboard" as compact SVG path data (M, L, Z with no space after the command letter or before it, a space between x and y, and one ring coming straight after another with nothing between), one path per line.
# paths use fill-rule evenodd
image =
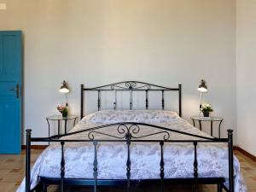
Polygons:
M81 122L113 124L120 122L167 123L178 119L176 112L164 110L102 110L86 115Z

